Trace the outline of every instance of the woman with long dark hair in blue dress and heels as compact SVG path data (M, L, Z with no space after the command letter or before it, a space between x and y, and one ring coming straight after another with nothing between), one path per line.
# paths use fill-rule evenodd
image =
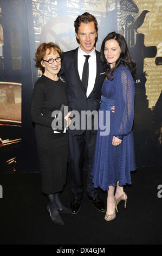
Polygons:
M105 220L111 221L121 200L125 201L126 207L127 195L123 186L131 184L130 172L136 169L132 132L135 63L124 36L115 32L109 33L103 40L101 60L106 79L101 89L99 127L91 174L94 187L107 191ZM112 106L115 106L115 111L112 111ZM109 126L109 135L103 126L106 130Z

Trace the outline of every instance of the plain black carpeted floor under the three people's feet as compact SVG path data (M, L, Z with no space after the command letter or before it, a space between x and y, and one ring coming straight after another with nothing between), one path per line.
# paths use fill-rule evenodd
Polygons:
M85 190L79 213L62 215L65 225L60 226L50 220L40 173L1 174L1 245L161 245L162 168L138 168L131 176L132 185L125 187L127 208L120 202L113 221L105 222ZM86 183L85 171L83 179ZM64 205L69 207L71 196L68 174ZM100 196L106 202L106 192Z

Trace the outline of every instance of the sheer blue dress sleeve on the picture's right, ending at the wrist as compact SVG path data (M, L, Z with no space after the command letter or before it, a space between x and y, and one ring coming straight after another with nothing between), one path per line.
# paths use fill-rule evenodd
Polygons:
M134 120L134 81L131 72L122 66L117 72L114 136L128 135Z

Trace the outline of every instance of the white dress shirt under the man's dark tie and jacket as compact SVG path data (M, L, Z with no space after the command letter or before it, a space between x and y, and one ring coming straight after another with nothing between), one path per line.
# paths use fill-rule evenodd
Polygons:
M88 59L89 63L89 78L88 78L88 87L87 87L87 97L92 92L94 88L95 78L96 78L96 53L95 48L92 52L86 53L81 50L79 46L78 53L77 53L77 68L80 76L80 80L82 80L82 72L83 72L83 65L85 64L86 57L84 55L90 55Z

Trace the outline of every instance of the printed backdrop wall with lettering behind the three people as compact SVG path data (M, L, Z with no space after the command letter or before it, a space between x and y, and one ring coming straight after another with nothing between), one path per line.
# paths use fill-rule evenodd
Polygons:
M162 165L161 8L160 0L0 0L1 172L38 171L30 119L31 95L41 75L35 68L35 51L44 41L59 44L63 51L76 48L74 20L85 11L92 13L99 23L96 50L100 51L101 42L109 32L125 36L137 63L133 129L137 165ZM4 106L12 108L11 102L7 102L9 96L5 96L4 105L6 82L12 83L12 87L22 84L22 101L18 96L19 108L13 108L13 113L4 121ZM16 89L12 89L15 95L13 92L17 92ZM12 96L12 104L14 99L14 105L18 106L16 97ZM15 120L13 117L20 113L21 102L22 118ZM9 147L5 144L7 140L17 141Z

